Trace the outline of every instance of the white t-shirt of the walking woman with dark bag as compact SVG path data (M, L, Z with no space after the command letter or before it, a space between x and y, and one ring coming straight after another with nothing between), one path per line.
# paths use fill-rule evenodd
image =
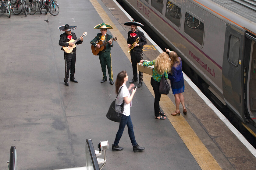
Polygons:
M123 88L121 89L121 91L118 94L117 99L116 99L116 104L118 104L118 105L121 105L123 103L123 98L124 97L130 97L130 92L129 92L128 88L126 87L126 85L123 84L121 87L123 87ZM119 90L120 90L120 88L119 88ZM126 104L124 102L123 114L126 115L126 116L130 115L130 103Z

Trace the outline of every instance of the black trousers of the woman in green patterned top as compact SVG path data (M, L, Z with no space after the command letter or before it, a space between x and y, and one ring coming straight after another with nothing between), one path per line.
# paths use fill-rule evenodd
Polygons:
M155 116L158 117L159 111L160 111L160 98L161 94L159 93L159 85L160 82L155 81L153 77L151 77L150 84L153 87L154 93L155 93L155 102L154 102L154 110L155 110Z

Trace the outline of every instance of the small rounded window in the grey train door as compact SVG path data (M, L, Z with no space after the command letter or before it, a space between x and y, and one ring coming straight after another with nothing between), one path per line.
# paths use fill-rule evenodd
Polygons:
M239 39L231 35L229 38L229 62L233 63L235 66L238 66L239 50L240 50Z

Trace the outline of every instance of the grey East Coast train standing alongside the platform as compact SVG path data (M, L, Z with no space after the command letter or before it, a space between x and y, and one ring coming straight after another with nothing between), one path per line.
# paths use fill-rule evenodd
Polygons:
M122 0L209 85L214 97L255 126L256 3L247 1Z

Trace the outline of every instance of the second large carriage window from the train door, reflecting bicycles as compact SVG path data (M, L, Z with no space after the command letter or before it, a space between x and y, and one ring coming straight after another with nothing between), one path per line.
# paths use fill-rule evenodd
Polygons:
M177 5L174 5L171 1L166 2L165 17L174 23L177 27L180 27L180 15L181 9Z

